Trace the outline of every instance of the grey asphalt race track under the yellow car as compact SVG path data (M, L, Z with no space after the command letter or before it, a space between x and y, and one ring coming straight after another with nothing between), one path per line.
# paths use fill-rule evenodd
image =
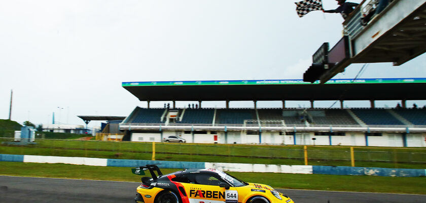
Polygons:
M139 183L0 176L0 202L134 202ZM278 189L296 203L426 202L426 195Z

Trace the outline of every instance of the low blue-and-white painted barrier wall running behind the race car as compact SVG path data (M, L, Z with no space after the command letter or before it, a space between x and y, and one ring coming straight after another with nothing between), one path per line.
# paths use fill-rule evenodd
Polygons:
M327 174L351 176L388 176L388 177L425 177L424 169L379 168L352 166L321 166L321 165L274 165L250 163L211 163L189 161L153 161L131 159L104 159L86 157L34 156L0 154L0 161L32 162L32 163L66 163L94 166L137 167L146 164L161 164L162 168L204 168L214 167L229 172L261 172L290 174Z

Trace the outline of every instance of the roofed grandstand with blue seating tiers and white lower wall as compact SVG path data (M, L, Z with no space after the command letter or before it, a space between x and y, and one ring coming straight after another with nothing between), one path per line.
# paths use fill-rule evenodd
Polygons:
M203 82L176 82L179 85L161 85L162 82L156 82L156 85L139 85L146 82L138 82L138 85L123 83L123 87L140 100L148 101L148 108L136 107L120 123L120 129L126 134L124 140L161 142L163 137L179 136L189 143L426 146L426 110L409 109L405 105L406 100L426 100L418 92L409 94L423 88L426 79L360 79L357 83L332 80L330 84L321 85L321 91L317 90L319 85L300 83L298 80L294 83L286 80L279 84L264 80L255 84L245 81L229 85L229 88L219 84L232 84L235 81L205 81L211 84L200 85ZM250 88L252 93L243 91L245 87ZM153 88L156 91L152 91ZM392 93L388 91L389 88ZM286 108L285 100L281 97L286 93L270 93L266 89L294 93L287 98L310 100L312 106ZM327 94L331 91L333 94ZM167 97L164 92L172 92L172 96ZM372 98L403 98L402 107L375 108ZM226 108L201 108L202 100L221 99L226 102ZM254 107L229 108L229 100L234 99L254 100ZM343 108L344 100L362 99L370 100L371 108ZM173 105L170 108L149 108L149 102L153 100L172 100ZM175 100L198 100L199 105L197 108L176 108ZM283 106L257 108L257 100L282 100ZM340 100L341 106L314 108L313 100Z

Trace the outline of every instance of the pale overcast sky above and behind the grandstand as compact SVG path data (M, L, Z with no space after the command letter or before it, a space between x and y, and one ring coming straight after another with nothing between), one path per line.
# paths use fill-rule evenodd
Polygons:
M77 115L127 116L147 106L121 82L302 79L318 47L340 40L343 19L321 11L299 18L294 2L0 0L0 119L9 117L11 89L12 120L51 123L55 112L61 123L84 124ZM334 0L323 4L326 10L337 7ZM335 78L354 78L361 66ZM423 54L401 66L370 64L360 78L426 77L425 67ZM333 102L317 101L315 107ZM397 102L377 101L376 107ZM309 103L287 103L298 105ZM345 105L367 107L369 101ZM231 101L231 107L253 107L253 101Z

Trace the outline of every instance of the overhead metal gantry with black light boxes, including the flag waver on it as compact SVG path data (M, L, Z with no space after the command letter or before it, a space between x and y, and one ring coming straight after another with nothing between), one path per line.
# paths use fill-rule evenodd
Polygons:
M394 0L379 14L375 6L364 0L349 15L344 37L330 50L328 43L318 49L304 81L325 83L352 63L401 65L426 52L426 0Z

